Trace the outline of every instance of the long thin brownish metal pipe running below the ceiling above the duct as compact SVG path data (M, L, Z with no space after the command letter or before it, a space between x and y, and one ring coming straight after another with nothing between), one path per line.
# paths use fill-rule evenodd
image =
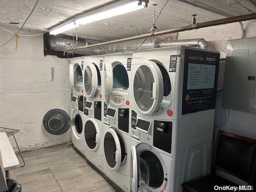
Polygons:
M252 20L252 19L256 19L256 13L246 14L246 15L241 15L241 16L234 16L234 17L229 17L229 18L224 18L224 19L218 19L218 20L213 20L213 21L208 21L208 22L203 22L203 23L190 24L188 26L182 26L179 28L162 30L162 31L158 31L158 32L150 33L150 34L143 34L143 35L128 37L128 38L124 38L124 39L113 40L113 41L109 41L109 42L102 42L102 43L98 43L98 44L81 46L81 47L77 47L77 48L69 48L67 51L74 51L74 50L87 49L87 48L93 48L93 47L98 47L98 46L105 46L105 45L114 44L114 43L127 42L127 41L131 41L131 40L142 39L142 38L149 38L152 36L171 34L171 33L182 32L182 31L186 31L186 30L194 30L194 29L199 29L199 28L205 28L205 27L210 27L210 26L216 26L216 25Z

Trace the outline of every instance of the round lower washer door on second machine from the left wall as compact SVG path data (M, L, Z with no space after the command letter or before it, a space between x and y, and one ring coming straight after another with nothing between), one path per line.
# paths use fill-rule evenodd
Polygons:
M84 138L88 148L92 151L98 150L100 146L100 130L93 118L88 118L84 125Z

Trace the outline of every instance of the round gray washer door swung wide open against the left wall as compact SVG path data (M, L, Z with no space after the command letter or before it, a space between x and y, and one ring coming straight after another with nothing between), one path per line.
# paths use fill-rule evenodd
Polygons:
M62 109L52 109L43 118L45 130L53 135L66 133L70 128L70 116Z

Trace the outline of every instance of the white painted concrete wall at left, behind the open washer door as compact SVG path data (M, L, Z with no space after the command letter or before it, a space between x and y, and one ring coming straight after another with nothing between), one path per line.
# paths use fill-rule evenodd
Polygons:
M0 44L11 36L0 29ZM23 151L71 140L70 132L53 136L42 125L44 114L52 108L70 114L69 63L68 59L44 56L42 35L20 36L17 50L15 40L0 47L0 126L20 130L16 139Z

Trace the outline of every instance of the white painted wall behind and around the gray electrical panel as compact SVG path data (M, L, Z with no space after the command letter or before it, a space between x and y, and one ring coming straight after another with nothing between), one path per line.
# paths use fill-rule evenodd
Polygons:
M200 22L200 21L199 21ZM243 22L245 37L256 36L256 20ZM178 39L186 38L204 38L210 44L210 48L220 51L220 57L226 57L226 43L229 39L238 39L241 37L241 28L238 23L226 24L202 28L189 32L180 32ZM224 84L224 62L220 63L218 90L223 88ZM215 124L220 125L225 121L226 109L221 108L222 96L217 96ZM234 134L256 139L256 114L230 110L229 121L221 130L232 132ZM215 135L218 129L215 129Z

